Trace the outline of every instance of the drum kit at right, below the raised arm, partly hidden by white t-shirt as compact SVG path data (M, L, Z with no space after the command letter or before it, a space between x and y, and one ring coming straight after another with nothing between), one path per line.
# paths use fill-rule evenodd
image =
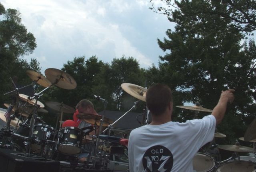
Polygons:
M212 112L211 109L203 108L202 106L176 106L178 108L189 109L194 111ZM197 113L196 113L197 114ZM195 115L197 116L197 115ZM254 148L241 146L238 140L235 145L217 145L215 138L224 138L225 134L217 132L215 129L214 139L202 147L193 158L193 168L195 172L256 172L256 158L251 156L239 156L240 153L256 152L256 121L254 120L247 129L244 137L239 140L250 141L254 143ZM253 134L252 134L253 133ZM248 138L247 140L244 138ZM219 149L234 152L232 157L220 161ZM214 158L215 157L215 158Z

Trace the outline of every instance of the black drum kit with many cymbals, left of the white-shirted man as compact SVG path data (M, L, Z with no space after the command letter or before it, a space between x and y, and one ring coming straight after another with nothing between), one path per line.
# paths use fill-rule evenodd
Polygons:
M4 106L8 108L7 111L0 111L0 119L6 123L0 129L1 149L12 149L13 151L22 152L24 157L28 156L28 154L33 154L33 156L37 155L50 160L60 161L60 165L70 165L72 168L76 164L75 166L80 166L80 168L85 170L90 168L98 169L99 171L107 170L108 154L124 153L125 146L128 143L127 139L100 135L102 133L101 127L107 127L107 129L112 130L112 125L117 122L104 117L104 114L102 116L78 114L80 120L92 125L82 129L71 126L61 127L63 113L74 113L76 111L74 108L63 103L45 102L48 108L58 112L55 127L47 125L38 116L38 112L48 113L44 104L39 101L42 94L52 86L58 86L67 90L76 88L76 81L72 76L55 68L46 69L46 76L32 70L27 70L26 74L33 80L34 84L37 83L43 86L44 90L35 93L34 96L27 96L20 94L20 89L27 87L24 86L6 93L11 95L12 103L5 103ZM28 86L31 85L33 84ZM103 99L99 97L99 100ZM105 100L104 110L106 109L106 103ZM94 135L89 135L89 133L93 132ZM82 153L86 147L85 143L88 144L88 142L93 145L93 148L90 150L90 156L86 162L78 163L78 154ZM111 149L107 149L110 147ZM106 150L108 150L107 153Z

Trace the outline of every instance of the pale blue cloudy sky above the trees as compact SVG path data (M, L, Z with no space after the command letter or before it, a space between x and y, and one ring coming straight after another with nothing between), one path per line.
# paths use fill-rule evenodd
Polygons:
M122 23L118 22L121 20L117 20L120 16L129 19L131 13L139 11L138 8L148 8L147 0L3 0L2 4L21 12L22 23L38 43L29 58L36 57L42 68L61 68L63 63L82 55L96 55L105 62L122 55L132 56L144 67L153 63L121 29L125 25L130 31L137 32L135 35L140 35L140 31L126 21L120 27ZM138 15L145 14L139 12Z

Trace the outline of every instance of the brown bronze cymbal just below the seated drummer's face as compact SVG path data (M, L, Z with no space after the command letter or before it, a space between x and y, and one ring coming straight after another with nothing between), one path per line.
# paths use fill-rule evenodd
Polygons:
M96 124L97 126L100 126L100 120L102 119L101 115L94 115L94 114L88 114L88 113L79 113L77 115L77 117L79 119L83 119L84 121L86 121L87 123L90 123L92 125ZM106 127L112 123L113 123L113 121L111 119L104 117L102 126Z

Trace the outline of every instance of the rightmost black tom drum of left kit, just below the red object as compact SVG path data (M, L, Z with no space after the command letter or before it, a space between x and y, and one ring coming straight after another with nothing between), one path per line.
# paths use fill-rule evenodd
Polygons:
M58 133L58 151L74 155L81 152L82 134L76 127L65 127Z

